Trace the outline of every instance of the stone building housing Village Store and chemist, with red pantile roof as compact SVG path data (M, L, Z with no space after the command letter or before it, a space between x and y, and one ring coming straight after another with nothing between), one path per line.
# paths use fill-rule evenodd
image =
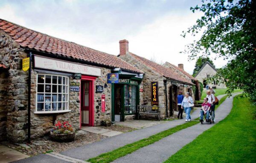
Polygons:
M31 81L22 70L28 56ZM123 83L108 83L113 74ZM119 57L0 19L0 140L28 138L29 98L31 138L49 133L56 121L69 121L76 130L111 121L121 91L131 94L124 112L135 114L142 77L143 71Z

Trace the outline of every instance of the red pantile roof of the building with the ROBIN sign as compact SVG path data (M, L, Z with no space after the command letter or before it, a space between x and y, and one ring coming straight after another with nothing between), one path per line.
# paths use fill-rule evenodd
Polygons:
M172 79L172 80L176 80L176 81L180 81L182 83L187 83L190 85L195 85L193 84L191 81L185 79L184 77L180 76L179 74L177 74L177 72L164 67L162 65L159 65L155 62L152 62L146 58L137 56L136 54L133 54L131 52L129 52L133 57L135 57L137 60L139 60L140 62L142 62L143 64L145 64L146 66L150 67L151 69L153 69L154 71L157 71L159 74L162 74L164 77Z

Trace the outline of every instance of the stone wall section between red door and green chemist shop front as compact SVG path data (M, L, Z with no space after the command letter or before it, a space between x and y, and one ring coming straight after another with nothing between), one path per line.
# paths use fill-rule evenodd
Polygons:
M102 68L101 69L101 77L97 77L95 80L95 88L96 85L104 85L108 82L107 74L111 73L111 69ZM94 90L95 92L95 90ZM105 94L105 113L102 112L102 94ZM102 120L110 120L111 121L111 84L108 84L107 88L104 88L104 92L95 93L94 94L94 125L100 126L102 125Z

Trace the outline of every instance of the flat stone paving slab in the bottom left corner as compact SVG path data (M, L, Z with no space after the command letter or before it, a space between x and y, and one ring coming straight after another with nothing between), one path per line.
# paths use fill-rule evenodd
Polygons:
M27 157L29 156L26 154L8 148L7 146L0 145L0 163L9 163Z

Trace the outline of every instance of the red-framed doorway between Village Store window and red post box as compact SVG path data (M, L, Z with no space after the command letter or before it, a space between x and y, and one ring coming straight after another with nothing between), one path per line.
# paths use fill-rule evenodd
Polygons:
M94 125L94 80L96 77L81 77L81 126Z

